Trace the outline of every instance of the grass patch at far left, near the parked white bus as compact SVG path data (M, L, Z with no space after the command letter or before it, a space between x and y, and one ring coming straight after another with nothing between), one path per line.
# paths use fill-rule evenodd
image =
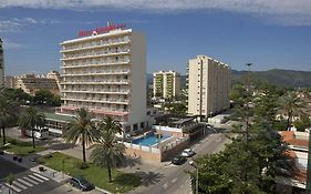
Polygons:
M35 145L35 149L33 150L32 143L22 142L17 139L7 137L7 143L10 143L10 144L8 146L6 146L3 150L6 150L8 152L13 152L14 154L21 155L21 156L25 156L25 155L33 154L33 153L45 150L44 147L42 147L40 145ZM3 140L2 140L2 137L0 137L0 146L2 146L2 144L3 144Z

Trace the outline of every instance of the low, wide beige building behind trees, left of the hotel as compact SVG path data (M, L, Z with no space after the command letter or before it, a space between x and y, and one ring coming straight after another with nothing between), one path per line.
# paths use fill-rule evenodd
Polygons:
M22 89L25 93L34 94L35 91L46 89L54 94L60 90L54 79L48 79L44 75L24 74L15 78L15 89Z

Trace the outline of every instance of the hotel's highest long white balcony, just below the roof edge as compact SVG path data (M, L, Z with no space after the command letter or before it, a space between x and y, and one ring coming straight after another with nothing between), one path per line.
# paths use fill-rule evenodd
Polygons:
M61 53L68 53L68 52L74 52L74 51L85 51L85 50L92 50L92 49L101 49L101 48L107 48L113 45L126 45L129 44L131 40L121 40L121 41L105 41L102 43L94 43L90 45L80 45L80 47L66 47L66 49L62 50Z

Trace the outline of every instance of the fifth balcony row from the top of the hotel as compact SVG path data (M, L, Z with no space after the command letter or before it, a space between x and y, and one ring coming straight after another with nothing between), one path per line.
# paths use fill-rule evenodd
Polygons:
M115 85L124 85L129 84L129 81L126 80L83 80L83 81L63 81L61 85L66 84L87 84L87 85L103 85L103 84L115 84Z

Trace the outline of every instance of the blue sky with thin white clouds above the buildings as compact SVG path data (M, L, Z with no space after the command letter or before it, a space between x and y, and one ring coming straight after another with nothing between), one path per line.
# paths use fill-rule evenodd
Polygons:
M1 0L6 73L60 71L59 43L107 20L146 35L147 72L184 74L187 60L198 54L235 70L252 62L257 71L311 71L308 0Z

